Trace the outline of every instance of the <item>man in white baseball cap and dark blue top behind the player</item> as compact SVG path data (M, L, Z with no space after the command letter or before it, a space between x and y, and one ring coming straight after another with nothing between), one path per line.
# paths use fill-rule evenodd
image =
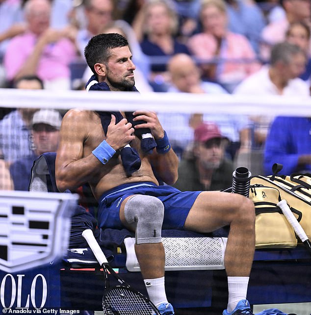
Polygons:
M61 121L60 113L52 109L41 109L33 114L31 121L33 153L10 166L14 190L27 191L33 161L43 153L56 152Z

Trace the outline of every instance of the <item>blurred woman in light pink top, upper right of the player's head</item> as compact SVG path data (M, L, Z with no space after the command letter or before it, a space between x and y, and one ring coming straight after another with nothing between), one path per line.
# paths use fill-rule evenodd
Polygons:
M188 48L201 62L207 61L202 64L204 77L218 81L232 92L261 65L256 61L256 54L247 38L228 30L223 0L204 0L200 19L202 32L189 38Z

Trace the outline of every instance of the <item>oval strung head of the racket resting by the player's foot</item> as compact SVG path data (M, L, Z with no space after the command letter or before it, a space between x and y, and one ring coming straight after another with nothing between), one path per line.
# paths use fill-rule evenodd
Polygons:
M155 315L155 309L142 296L126 288L113 288L104 296L103 307L111 315Z

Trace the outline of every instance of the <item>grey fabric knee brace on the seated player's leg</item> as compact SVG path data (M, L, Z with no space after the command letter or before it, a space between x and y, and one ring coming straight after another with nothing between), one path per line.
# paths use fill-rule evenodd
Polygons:
M136 244L159 243L164 217L164 205L156 197L137 194L124 208L128 223L136 223Z

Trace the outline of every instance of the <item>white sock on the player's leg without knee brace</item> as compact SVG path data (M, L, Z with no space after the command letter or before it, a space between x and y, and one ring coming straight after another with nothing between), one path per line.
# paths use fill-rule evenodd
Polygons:
M240 300L246 299L249 277L228 277L228 306L231 313Z

